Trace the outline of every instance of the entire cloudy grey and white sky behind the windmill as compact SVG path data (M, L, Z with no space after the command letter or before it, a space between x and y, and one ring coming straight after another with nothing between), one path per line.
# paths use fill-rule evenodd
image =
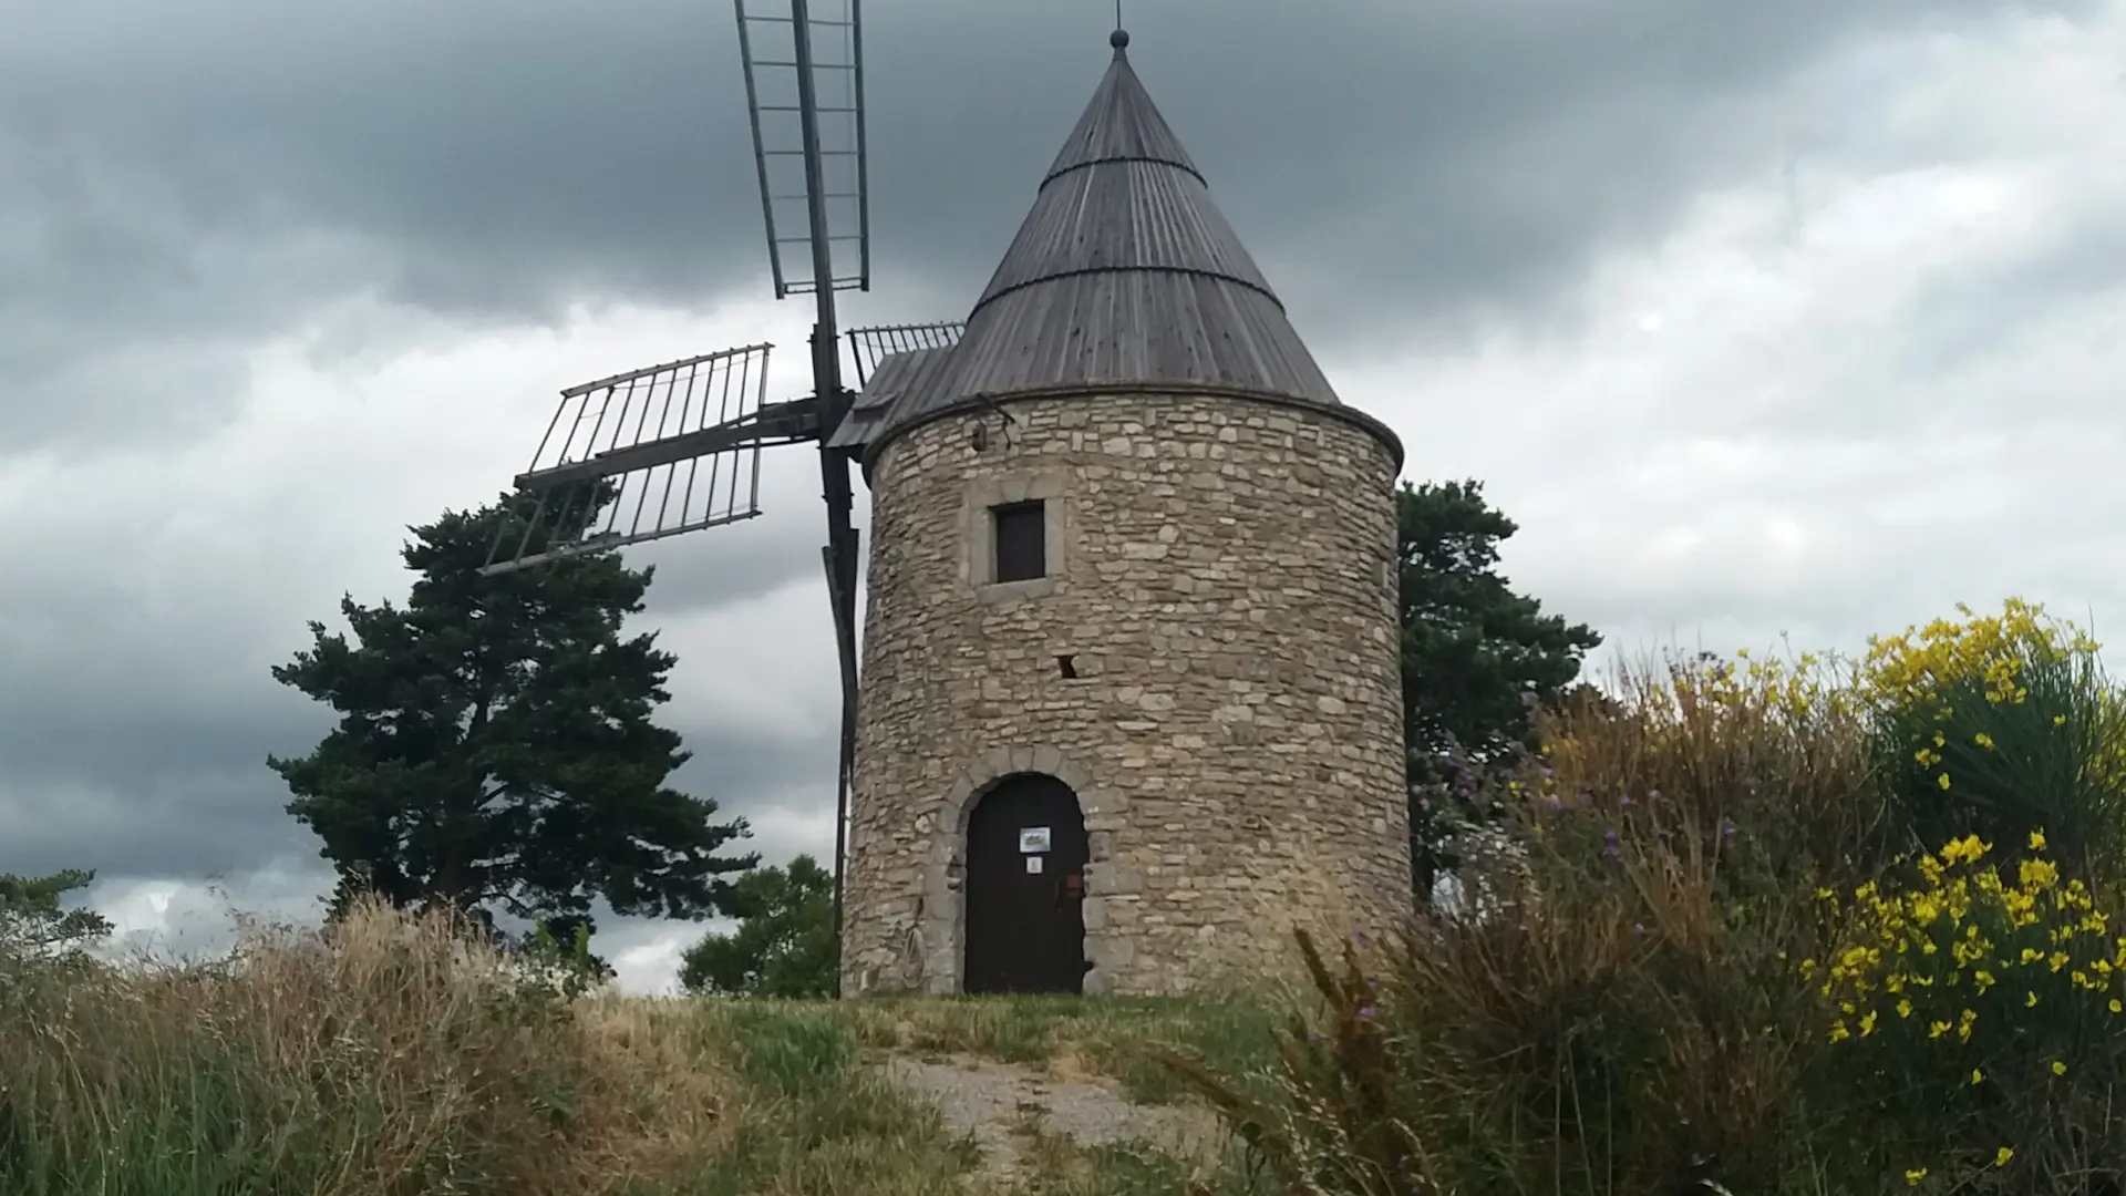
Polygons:
M872 294L959 319L1108 62L1101 0L872 4ZM0 873L134 941L330 885L266 753L342 592L555 392L774 340L727 9L0 0ZM1131 57L1342 396L1484 479L1609 645L2126 621L2126 0L1131 0ZM808 453L638 549L680 781L829 853ZM2120 660L2113 653L2113 660ZM225 892L215 892L215 890ZM608 921L629 987L699 926Z

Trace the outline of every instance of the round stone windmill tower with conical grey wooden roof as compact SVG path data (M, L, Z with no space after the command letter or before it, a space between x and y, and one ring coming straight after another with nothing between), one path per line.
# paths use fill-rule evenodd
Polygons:
M887 358L844 992L1180 992L1410 907L1401 445L1114 64L959 343Z

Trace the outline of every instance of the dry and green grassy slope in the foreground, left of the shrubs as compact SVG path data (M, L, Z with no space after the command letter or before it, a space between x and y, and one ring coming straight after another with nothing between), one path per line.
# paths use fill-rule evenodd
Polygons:
M982 1056L1178 1087L1169 1043L1246 1066L1242 1002L744 1002L568 996L366 911L225 964L0 966L9 1196L1178 1192L1188 1166L1025 1128L1010 1187L874 1056ZM1212 1177L1218 1187L1239 1179Z

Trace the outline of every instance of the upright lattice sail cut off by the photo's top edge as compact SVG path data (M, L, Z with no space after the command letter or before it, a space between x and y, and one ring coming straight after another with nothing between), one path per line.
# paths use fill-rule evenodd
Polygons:
M812 294L821 277L838 292L872 289L861 0L733 2L776 298ZM819 138L810 155L808 106ZM825 200L819 230L808 209L814 189ZM814 268L821 253L825 275Z

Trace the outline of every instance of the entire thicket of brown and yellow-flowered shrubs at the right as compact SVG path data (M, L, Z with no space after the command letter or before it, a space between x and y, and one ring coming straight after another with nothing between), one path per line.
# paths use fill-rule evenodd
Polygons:
M1463 779L1461 902L1310 947L1282 1096L1174 1066L1295 1192L2115 1194L2122 711L2024 602L1626 670Z

